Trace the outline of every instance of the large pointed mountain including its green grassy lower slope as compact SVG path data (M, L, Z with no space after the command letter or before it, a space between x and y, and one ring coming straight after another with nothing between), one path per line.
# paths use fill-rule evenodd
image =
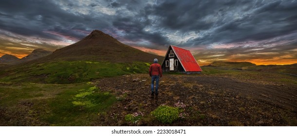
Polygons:
M36 51L33 52L22 60L29 60ZM164 59L94 30L77 43L58 49L48 56L9 68L0 67L0 82L71 84L148 73L154 58L158 58L159 63Z

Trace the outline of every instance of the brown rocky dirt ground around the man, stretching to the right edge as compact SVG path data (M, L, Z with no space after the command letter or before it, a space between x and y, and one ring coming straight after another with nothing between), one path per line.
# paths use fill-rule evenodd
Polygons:
M148 74L124 75L95 81L102 91L111 91L121 101L101 115L99 126L296 126L297 85L275 75L174 75L160 81L158 98L150 97ZM290 80L296 81L296 77ZM183 102L184 119L162 124L150 115L159 105ZM125 115L142 113L137 123Z

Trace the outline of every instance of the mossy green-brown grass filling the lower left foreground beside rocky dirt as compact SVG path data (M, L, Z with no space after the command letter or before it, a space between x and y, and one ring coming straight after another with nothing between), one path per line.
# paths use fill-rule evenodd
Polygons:
M90 83L0 85L0 126L90 126L117 101Z

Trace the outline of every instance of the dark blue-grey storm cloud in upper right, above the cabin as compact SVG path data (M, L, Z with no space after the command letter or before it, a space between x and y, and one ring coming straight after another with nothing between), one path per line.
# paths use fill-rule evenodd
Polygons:
M297 2L251 0L172 1L151 7L168 30L206 33L193 41L199 44L262 40L297 30Z

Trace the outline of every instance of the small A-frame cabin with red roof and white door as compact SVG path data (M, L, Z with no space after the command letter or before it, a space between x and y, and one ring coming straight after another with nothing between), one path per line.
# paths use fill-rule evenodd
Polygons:
M161 67L163 72L199 73L202 71L189 50L173 45L169 45Z

